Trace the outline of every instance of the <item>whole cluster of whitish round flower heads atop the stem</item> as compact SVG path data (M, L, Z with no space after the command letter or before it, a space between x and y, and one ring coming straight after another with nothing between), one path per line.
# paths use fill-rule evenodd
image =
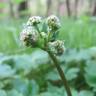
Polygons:
M45 19L44 19L45 20ZM46 24L48 32L44 32L42 26L39 28L39 24ZM42 24L41 24L42 25ZM54 54L62 54L64 52L64 42L56 40L57 30L60 28L60 21L58 17L51 15L45 21L39 16L33 16L29 18L26 23L26 28L20 34L20 40L26 45L31 47L38 47L52 51ZM54 39L55 38L55 39ZM53 40L54 39L54 40ZM52 41L53 40L53 41Z

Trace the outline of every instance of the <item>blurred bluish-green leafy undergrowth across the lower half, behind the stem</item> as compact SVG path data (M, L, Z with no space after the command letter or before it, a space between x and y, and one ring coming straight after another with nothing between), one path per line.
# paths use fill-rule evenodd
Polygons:
M42 55L42 56L41 56ZM73 96L94 96L96 92L96 47L68 49L58 57ZM67 96L48 54L0 55L2 96Z

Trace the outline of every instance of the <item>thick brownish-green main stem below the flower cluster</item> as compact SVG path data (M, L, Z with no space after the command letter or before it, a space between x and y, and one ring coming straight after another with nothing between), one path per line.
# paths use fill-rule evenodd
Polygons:
M63 81L63 85L66 89L67 95L72 96L70 87L69 87L68 82L67 82L66 77L65 77L65 74L59 65L59 61L57 60L56 56L52 52L50 52L50 51L47 51L47 52L48 52L49 56L51 57L51 59L53 60L55 66L59 72L59 75Z

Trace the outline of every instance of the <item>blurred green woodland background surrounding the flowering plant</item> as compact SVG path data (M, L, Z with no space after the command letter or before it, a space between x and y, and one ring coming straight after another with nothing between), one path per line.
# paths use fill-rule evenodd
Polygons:
M73 96L96 94L96 0L0 0L0 96L67 96L46 52L22 45L30 16L60 18L60 56Z

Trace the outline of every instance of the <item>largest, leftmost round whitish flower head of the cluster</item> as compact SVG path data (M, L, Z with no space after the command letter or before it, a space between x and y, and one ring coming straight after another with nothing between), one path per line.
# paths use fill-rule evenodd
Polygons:
M25 28L20 34L20 40L26 46L34 47L38 41L38 32L33 27Z

